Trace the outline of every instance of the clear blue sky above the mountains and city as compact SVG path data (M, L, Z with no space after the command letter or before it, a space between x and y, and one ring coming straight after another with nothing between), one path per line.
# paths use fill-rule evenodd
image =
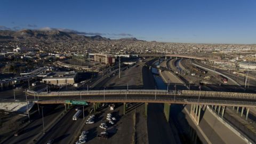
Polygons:
M116 39L256 43L255 0L0 2L0 28L65 28Z

